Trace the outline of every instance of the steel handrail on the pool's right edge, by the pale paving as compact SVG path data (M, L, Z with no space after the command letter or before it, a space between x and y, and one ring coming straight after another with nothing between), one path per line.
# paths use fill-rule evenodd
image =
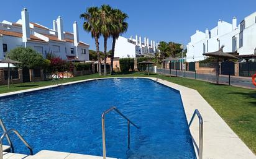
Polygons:
M198 148L198 158L202 159L203 158L203 117L199 113L198 109L194 110L193 116L190 120L190 123L188 124L188 127L191 126L194 116L198 116L199 119L199 147ZM196 144L196 143L195 143Z

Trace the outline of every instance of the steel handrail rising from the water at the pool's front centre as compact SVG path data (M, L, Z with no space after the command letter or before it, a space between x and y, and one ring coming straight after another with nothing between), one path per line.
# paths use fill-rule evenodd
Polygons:
M124 116L124 114L122 114L119 110L117 110L117 108L115 106L109 108L108 110L104 111L104 113L101 116L101 122L102 122L102 131L103 131L103 159L106 159L106 137L105 137L105 116L107 113L109 113L110 111L116 111L119 115L122 116L122 118L127 120L127 129L128 129L128 148L130 148L130 124L132 124L133 126L135 126L137 129L139 129L139 126L137 126L136 124L134 124L134 122L130 121L130 119L128 119L126 116ZM0 158L1 159L1 158Z

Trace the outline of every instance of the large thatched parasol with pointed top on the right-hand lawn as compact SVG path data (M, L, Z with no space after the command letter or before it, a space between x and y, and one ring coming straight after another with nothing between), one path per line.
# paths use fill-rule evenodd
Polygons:
M216 59L217 59L217 61L216 61L216 77L217 77L216 83L217 84L219 84L219 59L238 59L237 57L232 55L235 53L224 53L223 48L224 48L224 45L222 45L218 51L211 52L211 53L203 53L203 55L205 55L205 56L216 57Z

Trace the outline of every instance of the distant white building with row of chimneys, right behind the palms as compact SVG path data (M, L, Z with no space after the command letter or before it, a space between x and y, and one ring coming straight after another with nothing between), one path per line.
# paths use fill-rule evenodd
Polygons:
M135 39L119 37L116 40L115 47L115 57L118 58L137 58L142 56L155 56L155 53L158 52L157 49L158 43L151 40L149 43L149 38L144 38L142 42L141 37L138 35L135 36Z

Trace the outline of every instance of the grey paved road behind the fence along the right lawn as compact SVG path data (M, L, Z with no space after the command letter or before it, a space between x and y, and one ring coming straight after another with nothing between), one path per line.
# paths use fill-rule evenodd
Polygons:
M157 69L157 72L160 74L170 75L169 69ZM178 76L178 77L188 77L190 79L199 79L199 80L206 80L209 82L216 82L216 74L213 72L213 74L198 74L191 71L176 71L171 70L172 76ZM229 84L229 76L228 75L219 75L219 82L221 84ZM252 78L251 77L237 77L234 75L231 75L231 85L239 86L239 87L247 87L247 88L256 88L254 84L252 84Z

